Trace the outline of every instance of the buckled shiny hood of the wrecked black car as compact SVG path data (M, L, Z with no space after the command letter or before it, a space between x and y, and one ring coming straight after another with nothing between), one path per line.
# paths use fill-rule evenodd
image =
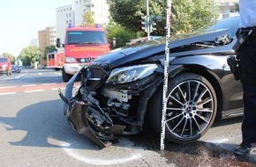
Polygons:
M202 42L202 41L215 41L216 38L229 33L229 29L217 30L214 32L207 32L203 34L190 34L190 35L179 35L170 38L169 49L175 47L186 46L192 43ZM157 40L148 40L147 42L142 42L136 45L121 47L111 51L108 54L104 54L92 62L91 65L96 66L108 66L109 69L116 68L126 63L131 63L139 61L141 59L146 59L153 55L163 55L165 54L165 38ZM231 47L229 48L231 51ZM220 51L220 49L215 49ZM195 53L207 53L213 52L213 48L206 48L200 50L191 50L188 54ZM184 54L184 52L171 53L169 56L176 56L178 54Z

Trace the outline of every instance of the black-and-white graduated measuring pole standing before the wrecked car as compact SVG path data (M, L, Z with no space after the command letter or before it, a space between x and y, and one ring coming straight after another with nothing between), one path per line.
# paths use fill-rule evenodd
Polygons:
M161 127L161 150L164 149L165 139L165 124L166 124L166 105L168 92L168 69L169 69L169 32L171 21L171 0L167 1L166 9L166 45L165 45L165 60L164 60L164 80L162 90L162 127Z

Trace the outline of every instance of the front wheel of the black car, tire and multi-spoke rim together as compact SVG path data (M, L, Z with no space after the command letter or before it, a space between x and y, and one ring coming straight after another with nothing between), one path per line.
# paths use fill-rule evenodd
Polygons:
M217 111L213 86L203 76L183 73L169 79L165 137L170 142L198 140L212 126ZM149 123L158 133L162 127L162 87L149 102Z

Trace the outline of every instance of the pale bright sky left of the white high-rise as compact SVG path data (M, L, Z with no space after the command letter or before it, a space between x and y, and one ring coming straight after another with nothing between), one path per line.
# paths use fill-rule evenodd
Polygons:
M56 25L56 8L73 0L0 0L0 54L18 56L38 31Z

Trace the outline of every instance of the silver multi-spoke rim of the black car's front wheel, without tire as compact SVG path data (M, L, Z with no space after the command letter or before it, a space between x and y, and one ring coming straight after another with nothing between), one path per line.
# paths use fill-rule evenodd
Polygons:
M177 84L168 96L166 127L169 133L181 140L202 134L212 122L214 105L212 92L200 81Z

